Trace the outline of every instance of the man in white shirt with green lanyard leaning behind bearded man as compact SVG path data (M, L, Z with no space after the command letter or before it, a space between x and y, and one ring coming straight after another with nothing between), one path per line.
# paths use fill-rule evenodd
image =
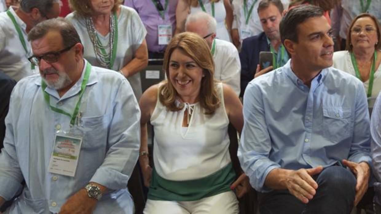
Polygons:
M0 70L10 78L21 78L38 73L28 61L32 55L27 34L37 23L58 17L60 0L21 0L20 7L10 6L0 13Z

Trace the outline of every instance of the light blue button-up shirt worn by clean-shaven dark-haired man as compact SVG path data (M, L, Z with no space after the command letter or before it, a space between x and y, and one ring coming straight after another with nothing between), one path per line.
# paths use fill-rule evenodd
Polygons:
M367 95L362 82L325 68L303 84L291 60L253 79L243 97L244 125L238 157L260 192L274 168L298 170L342 159L371 166Z

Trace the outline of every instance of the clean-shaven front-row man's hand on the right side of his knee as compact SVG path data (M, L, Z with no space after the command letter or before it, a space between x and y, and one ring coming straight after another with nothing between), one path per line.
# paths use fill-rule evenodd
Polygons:
M343 160L343 164L348 166L348 168L352 171L356 176L356 196L354 206L360 202L361 198L368 190L368 181L370 176L370 168L368 163L361 162L355 163L349 160Z

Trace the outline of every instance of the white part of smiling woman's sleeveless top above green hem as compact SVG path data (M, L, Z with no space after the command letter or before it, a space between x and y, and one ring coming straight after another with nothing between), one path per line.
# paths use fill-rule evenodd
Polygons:
M215 86L221 103L213 115L204 114L199 103L184 103L180 111L169 111L157 98L150 122L155 131L155 170L162 178L172 181L199 179L231 162L223 86L222 83ZM193 108L193 113L189 116L188 127L182 127L186 108Z

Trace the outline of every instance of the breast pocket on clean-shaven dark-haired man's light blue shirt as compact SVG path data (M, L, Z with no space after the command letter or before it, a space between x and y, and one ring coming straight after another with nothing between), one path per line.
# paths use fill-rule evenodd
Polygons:
M341 106L323 107L323 133L328 141L338 143L350 137L351 108Z

